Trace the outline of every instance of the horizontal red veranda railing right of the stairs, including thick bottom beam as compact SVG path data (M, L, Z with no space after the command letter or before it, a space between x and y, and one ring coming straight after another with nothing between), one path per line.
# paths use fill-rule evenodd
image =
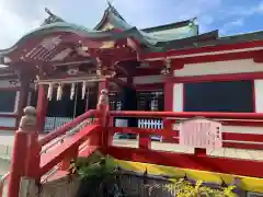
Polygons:
M228 174L239 174L244 176L263 177L261 166L262 161L243 160L233 158L210 157L206 153L206 149L194 149L194 153L179 153L158 151L151 149L150 136L162 136L167 141L172 143L179 142L179 131L173 130L172 125L178 118L192 118L196 116L217 119L253 119L263 120L263 114L252 113L172 113L172 112L110 112L113 117L150 117L163 118L164 129L141 129L126 127L110 127L108 138L110 148L107 153L119 160L128 160L134 162L155 163L160 165L211 171ZM233 127L235 128L235 127ZM235 131L235 130L229 130ZM139 136L138 148L114 147L112 139L116 132L136 134ZM224 147L237 149L263 149L263 131L262 134L222 134ZM229 142L235 140L235 142ZM237 142L239 141L239 142ZM248 143L251 142L251 143Z

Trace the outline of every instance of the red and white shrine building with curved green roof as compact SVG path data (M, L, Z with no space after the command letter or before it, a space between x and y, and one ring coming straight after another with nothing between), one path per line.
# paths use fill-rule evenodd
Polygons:
M0 130L14 131L27 105L37 107L39 131L53 130L95 108L102 89L114 111L263 113L263 32L199 34L196 19L138 30L111 4L94 28L46 12L0 50ZM259 131L242 124L226 127Z

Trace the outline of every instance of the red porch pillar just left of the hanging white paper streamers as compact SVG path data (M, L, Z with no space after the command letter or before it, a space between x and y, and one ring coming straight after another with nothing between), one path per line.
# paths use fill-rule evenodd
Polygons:
M38 128L39 132L44 131L47 104L48 104L48 101L47 101L47 97L45 94L45 86L44 86L44 84L41 84L38 86L37 106L36 106L37 128Z

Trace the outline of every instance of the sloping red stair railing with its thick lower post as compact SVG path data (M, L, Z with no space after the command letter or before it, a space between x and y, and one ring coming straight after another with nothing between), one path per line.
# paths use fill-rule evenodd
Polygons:
M38 134L35 130L26 130L26 127L16 131L9 175L8 197L19 197L22 176L41 181L41 177L58 163L60 163L61 170L68 169L70 160L78 157L79 147L87 138L91 139L88 146L99 147L102 141L102 135L100 134L102 129L100 125L93 124L82 128L73 138L65 138L64 143L54 147L41 157L42 148L48 142L61 137L90 117L96 117L98 123L102 123L103 120L100 120L101 115L102 112L99 109L89 111L41 140L38 140ZM1 184L3 185L4 181Z

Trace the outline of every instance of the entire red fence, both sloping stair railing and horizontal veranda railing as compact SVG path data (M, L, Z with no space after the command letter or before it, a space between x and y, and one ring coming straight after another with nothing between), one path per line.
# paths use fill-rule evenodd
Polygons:
M169 165L183 169L203 170L228 174L238 174L245 176L263 177L262 161L247 161L240 159L209 157L205 149L195 149L194 154L176 153L168 151L159 151L151 149L150 136L162 136L167 141L172 143L179 142L179 131L172 129L174 119L192 118L202 116L206 118L219 119L250 119L263 120L263 114L251 113L172 113L172 112L106 112L107 107L99 105L99 109L90 111L79 116L69 124L47 135L38 141L37 134L16 132L14 142L13 161L10 172L9 197L18 197L20 179L22 176L27 176L36 181L50 171L54 166L60 163L60 170L67 170L71 159L76 159L79 154L79 148L82 143L90 150L98 150L111 154L116 159L145 162L160 165ZM65 135L70 129L78 126L80 123L90 118L96 117L96 123L82 128L75 135L73 138L65 138L64 143L50 149L46 154L41 157L41 149L48 142ZM137 117L137 118L162 118L164 120L163 129L139 129L139 128L116 128L113 127L111 119L113 117ZM110 118L110 119L108 119ZM222 124L227 121L224 120ZM128 132L139 136L138 148L114 147L113 136L115 132ZM263 149L263 134L230 134L224 132L224 147L245 148L245 149ZM237 140L241 143L230 143L226 140ZM245 142L254 143L245 143ZM30 144L30 146L25 146ZM89 152L89 151L88 151ZM91 152L89 152L90 154ZM89 155L87 154L87 155ZM27 160L25 160L27 158ZM26 167L27 166L27 167Z

